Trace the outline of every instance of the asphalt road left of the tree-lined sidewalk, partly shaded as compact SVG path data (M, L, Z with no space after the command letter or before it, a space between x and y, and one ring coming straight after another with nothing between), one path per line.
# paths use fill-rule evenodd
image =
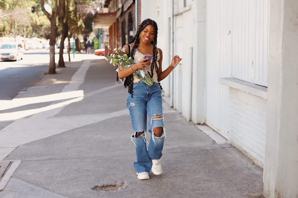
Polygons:
M58 55L59 49L55 51ZM55 62L58 57L55 56ZM25 91L49 69L49 50L27 50L23 60L0 61L0 100L11 100Z

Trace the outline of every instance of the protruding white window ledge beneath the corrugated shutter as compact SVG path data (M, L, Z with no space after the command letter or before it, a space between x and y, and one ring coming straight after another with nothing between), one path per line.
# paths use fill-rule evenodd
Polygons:
M236 78L219 78L219 83L267 100L267 87L248 83Z

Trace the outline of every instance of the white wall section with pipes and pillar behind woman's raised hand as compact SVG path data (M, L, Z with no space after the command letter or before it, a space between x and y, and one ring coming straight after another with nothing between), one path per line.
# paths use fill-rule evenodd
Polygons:
M158 47L163 51L163 69L176 54L183 60L161 85L172 106L195 123L205 121L205 1L150 1L142 3L142 20L158 24ZM150 10L150 12L148 11ZM172 21L174 34L172 36ZM172 39L174 42L172 42ZM173 47L173 54L172 54Z

